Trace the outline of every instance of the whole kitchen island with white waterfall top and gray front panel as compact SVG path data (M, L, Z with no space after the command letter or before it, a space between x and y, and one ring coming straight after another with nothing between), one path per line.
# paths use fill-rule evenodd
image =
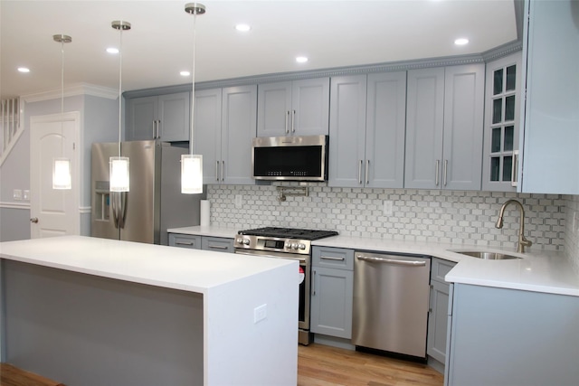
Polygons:
M2 362L70 386L297 383L296 261L81 236L0 258Z

